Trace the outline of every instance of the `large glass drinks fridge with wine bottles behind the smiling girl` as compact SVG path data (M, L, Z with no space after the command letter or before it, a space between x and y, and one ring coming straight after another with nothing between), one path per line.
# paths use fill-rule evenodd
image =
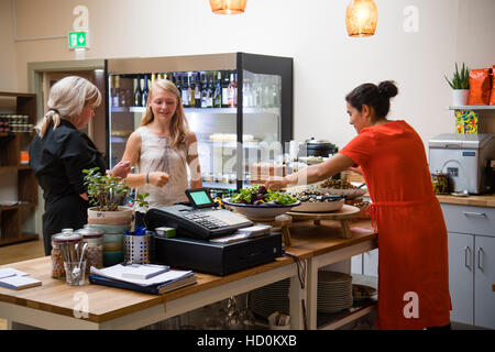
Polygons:
M140 127L151 86L173 81L198 139L204 186L228 194L285 174L293 139L293 58L246 53L107 61L112 167Z

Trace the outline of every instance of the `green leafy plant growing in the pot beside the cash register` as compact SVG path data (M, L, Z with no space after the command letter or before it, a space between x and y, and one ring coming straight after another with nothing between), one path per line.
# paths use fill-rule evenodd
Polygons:
M145 200L150 194L131 196L131 188L122 183L121 177L101 175L98 167L82 170L85 185L88 187L89 204L99 211L118 211L119 206L125 200L132 200L141 208L147 208Z

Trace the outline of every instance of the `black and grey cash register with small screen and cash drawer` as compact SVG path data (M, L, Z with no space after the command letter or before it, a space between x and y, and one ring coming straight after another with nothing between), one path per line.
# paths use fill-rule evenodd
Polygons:
M280 232L222 241L253 223L241 215L217 209L207 189L188 189L186 195L190 205L150 209L145 215L148 230L162 227L176 230L175 237L152 237L153 263L223 276L282 255Z

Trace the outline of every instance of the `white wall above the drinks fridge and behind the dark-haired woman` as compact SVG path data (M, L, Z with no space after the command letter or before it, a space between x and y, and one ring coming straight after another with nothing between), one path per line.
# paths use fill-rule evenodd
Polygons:
M366 38L346 36L349 0L249 0L244 14L231 16L212 14L208 0L14 1L19 38L66 35L74 7L88 7L86 58L227 52L294 57L295 138L329 139L339 146L355 135L344 101L355 86L396 80L399 95L389 118L406 119L427 143L454 131L443 75L451 75L455 62L473 68L495 64L494 0L375 0L378 28ZM28 90L28 63L75 54L65 38L13 44L10 4L0 0L0 43L7 48L0 87ZM407 6L419 10L417 33L403 30Z

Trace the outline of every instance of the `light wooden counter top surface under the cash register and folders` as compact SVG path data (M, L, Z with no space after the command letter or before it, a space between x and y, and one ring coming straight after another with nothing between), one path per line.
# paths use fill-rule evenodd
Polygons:
M351 224L351 239L341 238L340 224L337 221L321 221L321 224L320 227L315 227L310 221L294 223L290 227L293 245L285 250L297 255L299 258L309 258L315 255L376 239L376 234L373 233L369 220L353 222ZM89 299L88 318L85 319L101 323L292 263L294 263L293 258L283 256L278 257L275 262L227 276L197 273L197 284L156 296L101 285L90 285L87 278L87 284L84 286L67 286L65 279L52 278L51 258L50 256L45 256L0 266L14 267L30 273L32 277L41 279L43 283L42 286L23 290L0 287L0 301L74 317L74 309L77 305L77 301L74 300L74 295L76 293L85 293Z

